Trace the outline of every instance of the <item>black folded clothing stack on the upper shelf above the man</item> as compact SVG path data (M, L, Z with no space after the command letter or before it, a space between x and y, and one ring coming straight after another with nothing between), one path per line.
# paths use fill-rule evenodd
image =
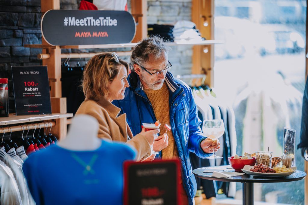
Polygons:
M172 25L148 24L148 35L159 35L164 41L174 42L173 28Z

